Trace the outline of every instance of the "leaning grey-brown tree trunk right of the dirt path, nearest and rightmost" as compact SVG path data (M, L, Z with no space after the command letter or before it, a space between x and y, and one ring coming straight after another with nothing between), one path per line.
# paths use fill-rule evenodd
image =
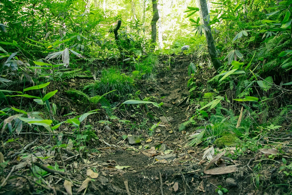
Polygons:
M212 32L211 32L211 26L208 25L209 21L207 21L207 16L209 15L209 13L208 13L208 7L207 7L206 0L200 0L200 6L201 6L201 12L203 15L203 19L204 19L204 25L208 29L208 30L205 30L205 35L206 35L206 41L207 41L207 45L208 45L209 54L210 54L211 61L213 63L214 68L216 70L218 70L218 68L220 68L220 66L222 66L222 63L218 59L214 39L213 39Z

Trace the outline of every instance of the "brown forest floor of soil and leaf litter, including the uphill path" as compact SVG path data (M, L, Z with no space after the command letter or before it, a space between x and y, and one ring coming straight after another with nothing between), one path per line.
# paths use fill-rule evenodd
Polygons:
M244 155L233 159L217 156L215 165L209 164L207 159L215 158L213 151L216 146L204 149L187 145L189 133L193 130L179 131L178 127L191 116L192 111L199 108L199 105L190 106L188 99L187 81L190 77L187 68L191 57L164 56L160 61L169 58L173 63L168 69L160 69L156 82L141 82L142 96L152 96L158 103L164 102L163 112L148 106L157 122L161 120L152 136L142 130L145 118L134 106L133 110L115 113L120 119L130 120L130 126L118 120L106 125L95 122L94 118L88 119L96 123L93 129L99 139L94 140L94 144L87 144L90 152L83 155L77 154L70 145L67 151L48 150L51 142L46 134L20 134L18 141L6 142L5 146L2 142L1 152L6 155L0 156L0 160L10 162L1 172L3 187L0 194L71 194L71 190L72 194L209 195L220 194L220 191L223 193L227 189L229 192L225 194L268 195L282 194L283 188L289 189L286 185L292 184L285 182L291 180L286 180L284 174L279 172L282 156L261 160L262 152L247 150ZM206 85L213 73L201 73L197 75L197 82ZM82 81L72 83L78 85ZM66 104L66 98L60 97L62 100L61 104ZM64 134L69 132L69 128L62 126ZM129 145L127 139L122 138L128 134L139 135L141 143ZM22 149L25 149L22 153L27 155L15 155ZM226 150L237 154L235 147ZM34 154L29 154L29 151ZM49 168L54 171L41 173L36 166L36 158L50 164L52 167ZM261 169L255 172L259 163ZM226 166L230 167L212 170ZM61 172L63 169L67 172Z

